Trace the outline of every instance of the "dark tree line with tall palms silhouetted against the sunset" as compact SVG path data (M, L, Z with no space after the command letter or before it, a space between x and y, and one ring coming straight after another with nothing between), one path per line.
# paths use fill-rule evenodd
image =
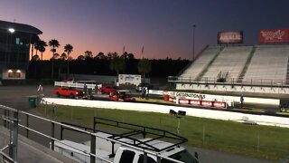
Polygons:
M118 75L126 74L142 74L146 76L174 76L180 72L189 61L172 60L171 58L160 60L149 60L146 58L135 59L133 53L102 53L99 52L93 56L91 51L80 54L76 59L70 57L73 46L68 43L64 46L63 53L57 53L60 43L51 39L49 43L42 41L39 37L33 38L32 42L32 60L29 65L28 77L34 79L58 79L62 80L61 73L66 73L67 77L70 73L79 74L98 74L98 75ZM42 60L42 53L45 52L47 46L51 47L51 59ZM36 53L33 54L33 51ZM41 56L37 52L41 52ZM51 74L51 76L49 76Z

